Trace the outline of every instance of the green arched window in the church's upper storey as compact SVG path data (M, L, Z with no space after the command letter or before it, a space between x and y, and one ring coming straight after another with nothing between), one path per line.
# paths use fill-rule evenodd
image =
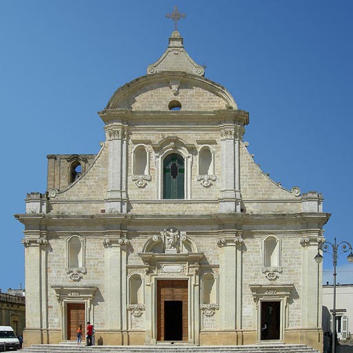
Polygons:
M184 199L184 159L172 153L163 161L163 199Z

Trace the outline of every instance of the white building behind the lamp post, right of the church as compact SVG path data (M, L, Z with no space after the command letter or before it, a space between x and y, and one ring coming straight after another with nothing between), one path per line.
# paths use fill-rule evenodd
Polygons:
M332 334L334 286L323 285L323 332ZM336 330L340 341L353 341L353 284L336 285Z

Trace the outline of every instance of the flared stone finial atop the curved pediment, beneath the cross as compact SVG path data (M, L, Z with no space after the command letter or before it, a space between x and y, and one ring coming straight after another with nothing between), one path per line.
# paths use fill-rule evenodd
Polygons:
M203 76L205 69L198 65L185 51L183 46L183 37L174 30L169 38L169 46L163 55L154 63L148 66L147 74L157 74L165 71L181 71L190 74Z

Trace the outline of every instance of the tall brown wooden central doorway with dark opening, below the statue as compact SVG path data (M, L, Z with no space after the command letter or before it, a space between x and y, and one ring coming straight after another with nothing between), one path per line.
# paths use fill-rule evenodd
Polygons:
M188 341L188 281L157 281L157 341Z

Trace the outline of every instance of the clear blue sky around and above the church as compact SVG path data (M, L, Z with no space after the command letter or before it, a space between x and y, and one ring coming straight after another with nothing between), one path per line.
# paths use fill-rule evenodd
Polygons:
M326 238L352 243L353 1L0 0L3 291L24 283L12 215L27 192L46 191L46 155L98 152L97 111L163 53L174 5L205 77L250 112L256 163L285 188L322 192ZM329 256L324 266L331 281Z

